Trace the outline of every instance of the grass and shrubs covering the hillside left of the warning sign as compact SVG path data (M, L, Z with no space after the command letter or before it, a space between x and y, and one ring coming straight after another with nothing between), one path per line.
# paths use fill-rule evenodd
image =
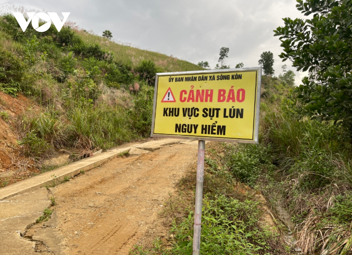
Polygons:
M82 158L150 134L156 72L202 69L69 26L23 32L0 16L0 90L40 107L15 120L21 151L38 161L68 150ZM8 120L6 112L1 118Z

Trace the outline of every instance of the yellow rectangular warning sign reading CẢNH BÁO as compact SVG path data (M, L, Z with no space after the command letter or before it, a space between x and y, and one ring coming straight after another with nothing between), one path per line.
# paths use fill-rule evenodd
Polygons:
M257 143L261 72L157 74L151 136Z

